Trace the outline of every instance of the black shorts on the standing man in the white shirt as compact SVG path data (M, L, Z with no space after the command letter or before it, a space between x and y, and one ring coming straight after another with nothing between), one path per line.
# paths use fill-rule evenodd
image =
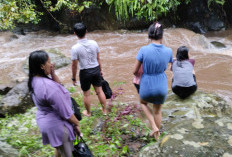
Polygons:
M101 87L101 73L99 66L90 69L80 70L79 79L81 89L87 91L91 84L96 87Z

